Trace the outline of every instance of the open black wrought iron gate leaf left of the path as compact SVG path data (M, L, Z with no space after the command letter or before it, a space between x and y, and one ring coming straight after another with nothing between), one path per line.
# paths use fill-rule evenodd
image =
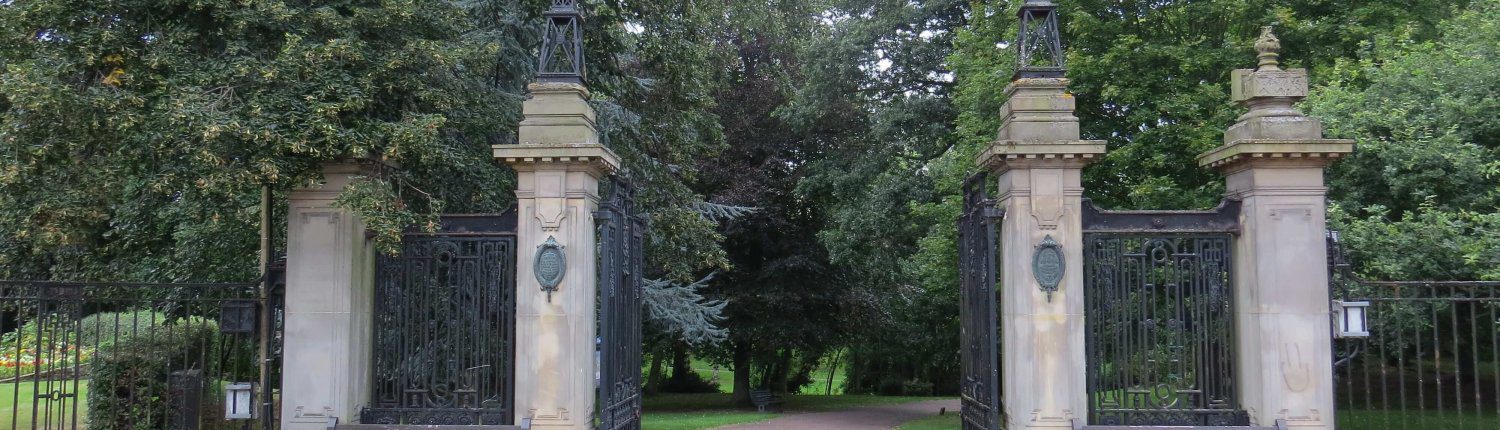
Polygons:
M594 213L598 226L598 429L640 429L640 300L646 220L634 189L615 178Z

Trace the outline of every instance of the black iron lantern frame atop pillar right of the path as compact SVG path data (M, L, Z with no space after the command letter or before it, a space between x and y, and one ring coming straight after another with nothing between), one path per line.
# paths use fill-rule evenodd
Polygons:
M1016 37L1014 78L1062 78L1066 67L1058 31L1058 4L1050 0L1026 0L1016 16L1022 22Z

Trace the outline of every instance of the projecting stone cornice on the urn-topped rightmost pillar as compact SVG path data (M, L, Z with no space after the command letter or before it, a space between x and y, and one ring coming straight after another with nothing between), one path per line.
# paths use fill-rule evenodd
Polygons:
M1326 165L1353 151L1353 139L1240 139L1200 154L1198 165L1221 169L1258 160Z

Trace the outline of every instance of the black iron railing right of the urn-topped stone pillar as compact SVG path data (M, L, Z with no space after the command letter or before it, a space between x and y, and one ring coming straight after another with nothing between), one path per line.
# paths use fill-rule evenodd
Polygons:
M1368 303L1334 340L1340 429L1500 429L1500 282L1360 280L1329 238L1334 298Z

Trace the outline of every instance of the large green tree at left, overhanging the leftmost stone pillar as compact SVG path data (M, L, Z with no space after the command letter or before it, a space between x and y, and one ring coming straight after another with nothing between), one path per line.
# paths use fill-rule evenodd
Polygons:
M590 85L652 217L651 262L723 267L682 181L718 148L714 9L590 9ZM500 211L543 0L0 3L0 276L254 277L258 195L374 157L350 189L387 249L438 213ZM639 28L627 30L626 22ZM278 226L278 231L284 231Z

